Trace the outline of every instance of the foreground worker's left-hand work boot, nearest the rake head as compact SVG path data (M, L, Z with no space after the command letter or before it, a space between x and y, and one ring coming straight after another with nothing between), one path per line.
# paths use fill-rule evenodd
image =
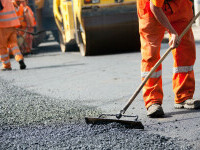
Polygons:
M150 118L159 118L164 115L163 109L160 104L153 104L147 110L147 116Z

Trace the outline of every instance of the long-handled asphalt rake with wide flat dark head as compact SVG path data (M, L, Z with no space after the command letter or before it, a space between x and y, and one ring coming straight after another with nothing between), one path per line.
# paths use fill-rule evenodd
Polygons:
M192 24L195 22L195 20L199 17L200 12L197 13L196 16L190 21L190 23L187 25L187 27L183 30L183 32L179 36L179 41L182 39L182 37L185 35L185 33L191 28ZM87 124L108 124L108 123L120 123L128 128L134 128L134 129L144 129L143 124L138 121L137 116L127 116L124 115L126 110L129 108L129 106L132 104L132 102L135 100L136 96L139 94L145 83L148 81L148 79L151 77L153 72L158 68L158 66L163 62L163 60L166 58L166 56L173 50L173 48L169 47L167 51L164 53L164 55L158 60L158 62L154 65L154 67L151 69L149 74L145 77L145 79L142 81L142 83L139 85L137 90L134 92L134 94L131 96L131 98L128 100L128 103L125 105L125 107L119 112L119 114L101 114L99 117L85 117L85 121ZM115 116L116 119L109 119L105 118ZM135 120L120 120L121 117L135 117Z

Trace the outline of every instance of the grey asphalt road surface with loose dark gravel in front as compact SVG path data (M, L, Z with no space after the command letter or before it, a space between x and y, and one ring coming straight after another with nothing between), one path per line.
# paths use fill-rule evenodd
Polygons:
M200 98L198 40L196 47ZM140 93L126 114L138 115L145 129L133 130L86 125L84 117L119 113L141 83L140 52L82 57L61 53L54 41L33 52L27 70L12 59L13 70L0 73L0 149L200 149L200 111L173 108L171 54L163 62L165 117L148 118Z

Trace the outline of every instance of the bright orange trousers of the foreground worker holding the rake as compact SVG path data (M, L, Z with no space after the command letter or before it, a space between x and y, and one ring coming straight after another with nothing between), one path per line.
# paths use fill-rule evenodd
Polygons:
M150 72L160 58L160 47L166 29L153 17L146 6L148 0L138 1L139 32L141 40L141 76L142 80ZM192 5L189 0L173 0L168 6L163 6L170 23L180 35L192 19ZM190 29L182 38L178 48L172 51L173 66L173 91L175 103L181 103L193 98L195 79L193 65L196 59L195 41ZM162 104L162 65L152 74L144 85L143 98L148 108L152 104Z

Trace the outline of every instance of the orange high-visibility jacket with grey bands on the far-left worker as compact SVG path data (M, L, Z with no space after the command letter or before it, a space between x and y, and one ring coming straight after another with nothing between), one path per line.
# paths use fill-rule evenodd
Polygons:
M0 28L15 27L20 25L11 0L1 0L1 3L4 8L0 11Z

